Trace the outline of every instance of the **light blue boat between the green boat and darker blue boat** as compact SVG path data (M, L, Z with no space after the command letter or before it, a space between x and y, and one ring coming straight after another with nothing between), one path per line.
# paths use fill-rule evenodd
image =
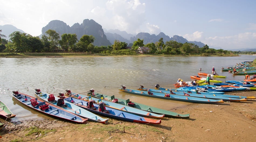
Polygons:
M91 92L92 92L92 94L88 93L88 95L94 97L94 95L93 95L94 91L91 91ZM85 96L85 95L82 95L82 94L71 93L71 91L70 91L70 94L72 94L71 97L81 99L81 100L87 99L87 97L88 97L88 96ZM139 115L139 116L143 116L143 117L158 118L158 119L164 118L164 114L155 114L153 112L140 110L140 109L137 109L137 108L134 108L134 107L129 107L129 106L126 106L126 105L118 104L118 103L115 103L115 102L112 102L112 101L106 101L106 100L103 100L103 99L95 98L94 100L98 103L99 102L104 102L105 105L108 106L108 107L115 108L115 109L118 109L120 111L128 112L128 113L131 113L131 114L135 114L135 115Z

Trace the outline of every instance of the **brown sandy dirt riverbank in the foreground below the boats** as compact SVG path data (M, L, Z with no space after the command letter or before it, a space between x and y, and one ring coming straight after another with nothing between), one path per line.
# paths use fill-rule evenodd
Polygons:
M256 91L227 93L255 96ZM161 125L149 125L109 119L108 124L88 121L87 124L70 123L54 118L28 120L13 124L6 122L1 129L1 142L255 142L256 100L224 102L218 104L194 103L170 110L190 114L189 119L162 119ZM36 126L41 132L27 136ZM44 133L45 130L49 132Z

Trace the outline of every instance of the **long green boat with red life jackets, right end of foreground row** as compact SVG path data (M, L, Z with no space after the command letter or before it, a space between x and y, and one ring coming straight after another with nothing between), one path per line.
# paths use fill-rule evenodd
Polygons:
M148 105L132 102L132 101L130 101L130 99L124 100L124 99L120 99L120 98L115 98L114 95L113 96L107 96L107 95L99 94L99 93L94 93L94 95L92 95L91 92L89 92L87 94L89 96L92 96L92 97L95 97L95 98L98 98L98 99L112 101L112 102L115 101L115 103L118 103L118 104L126 105L126 106L129 106L129 107L134 107L134 108L144 110L144 111L148 111L148 112L153 112L155 114L164 114L164 116L167 116L167 117L189 118L189 114L178 114L176 112L167 111L167 110L163 110L163 109L160 109L160 108L151 107L151 106L148 106Z

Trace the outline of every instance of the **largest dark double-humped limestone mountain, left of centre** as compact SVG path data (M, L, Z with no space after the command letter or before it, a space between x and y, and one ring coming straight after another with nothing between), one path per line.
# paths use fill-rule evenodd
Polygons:
M85 19L82 24L75 23L73 26L68 26L66 23L60 20L50 21L45 27L42 28L42 34L46 35L47 30L55 30L61 37L62 34L76 34L78 40L83 35L93 35L95 37L94 45L107 46L111 45L107 39L102 26L96 23L94 20Z

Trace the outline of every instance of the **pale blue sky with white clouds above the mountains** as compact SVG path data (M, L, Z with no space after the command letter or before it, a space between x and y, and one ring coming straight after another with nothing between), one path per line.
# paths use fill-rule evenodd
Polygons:
M163 32L209 48L256 48L255 0L0 0L0 25L32 36L52 20L70 27L93 19L106 30ZM1 30L1 29L0 29ZM7 35L9 36L9 35Z

